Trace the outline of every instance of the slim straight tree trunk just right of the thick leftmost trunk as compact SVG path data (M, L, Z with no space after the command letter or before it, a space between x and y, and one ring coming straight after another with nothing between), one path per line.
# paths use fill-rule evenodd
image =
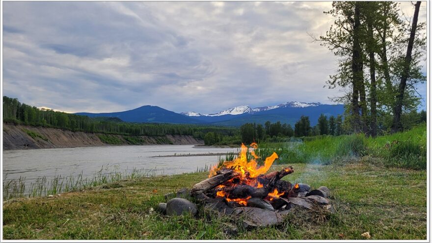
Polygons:
M368 21L369 36L374 35L372 21ZM371 135L377 136L377 81L375 80L375 52L374 42L369 43L369 71L371 75Z

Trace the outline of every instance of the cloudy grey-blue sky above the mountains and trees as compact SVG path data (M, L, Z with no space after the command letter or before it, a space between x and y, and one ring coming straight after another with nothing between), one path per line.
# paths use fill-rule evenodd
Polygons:
M3 95L67 112L330 104L340 91L323 86L335 58L308 36L325 33L330 7L3 1ZM412 15L409 2L403 7ZM419 90L426 95L426 84Z

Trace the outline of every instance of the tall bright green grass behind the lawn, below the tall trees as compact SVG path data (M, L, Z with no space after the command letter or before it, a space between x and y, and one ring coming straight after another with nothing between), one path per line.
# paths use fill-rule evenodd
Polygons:
M349 157L372 156L383 159L385 165L411 169L426 169L426 124L409 131L377 138L359 135L320 136L293 142L263 143L257 154L266 158L274 151L278 163L324 163Z

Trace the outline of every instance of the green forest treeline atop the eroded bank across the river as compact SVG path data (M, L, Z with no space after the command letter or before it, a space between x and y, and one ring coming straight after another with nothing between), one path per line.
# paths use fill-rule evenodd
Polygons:
M238 133L238 128L231 127L129 123L113 120L93 119L52 109L40 109L20 103L16 98L3 96L3 122L6 123L59 128L74 132L118 135L192 135L197 138L204 138L204 135L209 132L217 133L220 136L233 136Z

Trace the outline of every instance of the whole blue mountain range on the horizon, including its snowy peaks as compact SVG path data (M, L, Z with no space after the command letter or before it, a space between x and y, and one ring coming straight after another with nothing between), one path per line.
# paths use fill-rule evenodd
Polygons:
M224 109L213 114L203 114L193 111L176 113L158 106L150 105L119 112L78 112L75 114L89 117L115 117L125 122L207 124L216 126L241 126L247 122L264 124L266 121L280 121L282 123L294 125L301 115L305 115L310 117L310 122L313 126L322 113L327 116L336 116L342 114L343 109L343 105L290 101L275 106L257 108L242 105Z

